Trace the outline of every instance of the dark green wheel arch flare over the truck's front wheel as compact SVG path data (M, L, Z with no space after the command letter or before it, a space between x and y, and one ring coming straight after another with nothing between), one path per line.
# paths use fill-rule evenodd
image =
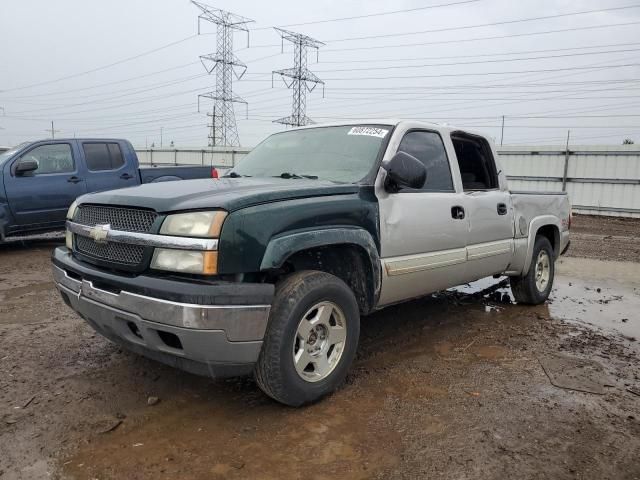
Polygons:
M274 237L260 270L319 270L335 275L352 289L363 314L375 308L380 294L380 256L373 237L362 228L307 230Z

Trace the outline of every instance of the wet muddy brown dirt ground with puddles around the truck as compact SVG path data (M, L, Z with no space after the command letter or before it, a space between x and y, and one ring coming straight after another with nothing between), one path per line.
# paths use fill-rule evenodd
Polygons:
M60 237L0 245L0 478L640 479L640 265L612 261L640 222L573 225L547 304L490 279L385 309L301 409L95 334L52 285Z

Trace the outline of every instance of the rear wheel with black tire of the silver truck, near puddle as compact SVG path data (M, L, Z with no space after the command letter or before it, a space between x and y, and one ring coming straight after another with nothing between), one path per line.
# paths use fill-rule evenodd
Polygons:
M544 265L538 266L538 263L542 261L544 264L544 257L546 256L548 268L548 278L546 282L541 282L541 277L545 274L541 273L545 271ZM547 237L539 235L536 237L535 244L533 246L533 255L531 258L531 266L529 272L523 277L511 277L511 292L513 293L516 302L527 305L540 305L544 303L551 289L553 288L553 278L555 276L555 257L553 248Z

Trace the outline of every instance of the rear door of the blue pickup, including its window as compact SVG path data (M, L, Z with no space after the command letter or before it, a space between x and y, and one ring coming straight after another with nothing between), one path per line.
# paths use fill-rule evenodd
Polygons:
M113 190L137 185L136 165L125 161L118 142L82 142L87 165L87 189L89 192Z

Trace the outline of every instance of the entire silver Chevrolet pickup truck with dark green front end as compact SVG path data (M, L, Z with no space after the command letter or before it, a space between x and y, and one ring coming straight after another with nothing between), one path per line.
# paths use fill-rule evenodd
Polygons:
M510 192L481 135L332 124L272 135L218 180L79 198L53 270L110 340L301 405L344 379L362 315L491 275L544 302L569 227L567 196Z

